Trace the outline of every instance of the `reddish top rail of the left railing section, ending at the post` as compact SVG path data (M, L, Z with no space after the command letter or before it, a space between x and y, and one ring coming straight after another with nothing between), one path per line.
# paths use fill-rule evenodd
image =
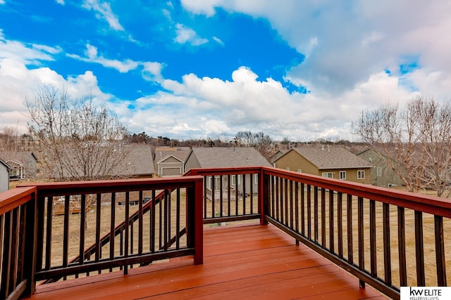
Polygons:
M127 192L130 190L183 188L202 182L202 176L177 178L137 178L104 181L68 181L51 183L23 183L19 187L34 186L41 196Z

